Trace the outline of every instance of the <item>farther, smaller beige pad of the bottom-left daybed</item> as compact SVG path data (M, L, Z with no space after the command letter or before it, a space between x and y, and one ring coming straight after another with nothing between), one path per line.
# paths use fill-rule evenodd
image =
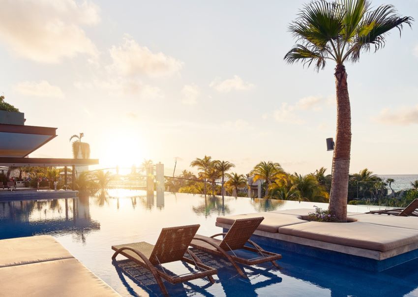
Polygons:
M0 267L74 258L52 236L0 240Z

